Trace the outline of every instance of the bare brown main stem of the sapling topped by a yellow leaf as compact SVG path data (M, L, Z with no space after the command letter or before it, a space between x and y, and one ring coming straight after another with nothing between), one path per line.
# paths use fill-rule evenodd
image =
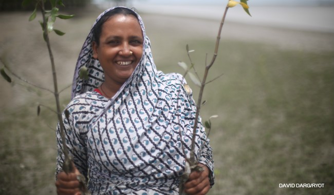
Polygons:
M212 57L212 60L211 60L210 64L209 65L206 64L205 72L204 72L204 75L203 75L203 80L202 80L200 90L199 90L199 94L198 94L198 100L197 100L197 105L196 105L195 123L194 123L194 127L193 127L193 136L192 136L192 143L191 143L190 162L189 162L190 166L193 166L193 165L197 164L197 162L195 160L195 151L194 150L195 150L196 129L197 129L197 125L198 125L199 111L200 111L200 107L201 107L201 103L202 103L203 91L204 91L204 87L206 85L206 80L207 80L207 76L208 76L208 73L209 73L209 69L212 67L212 65L215 62L216 57L217 57L221 29L222 29L222 26L224 25L225 17L226 17L228 9L229 9L229 7L226 6L224 15L221 18L221 22L220 22L220 26L219 26L219 30L218 30L218 35L217 35L217 40L216 40L216 45L215 45L215 51L214 51L214 54L213 54L213 57Z

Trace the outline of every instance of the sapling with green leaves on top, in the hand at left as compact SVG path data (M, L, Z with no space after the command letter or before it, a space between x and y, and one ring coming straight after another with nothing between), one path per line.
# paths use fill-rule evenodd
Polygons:
M13 76L15 76L17 79L19 79L19 80L21 80L21 81L23 81L27 84L30 84L34 87L40 88L42 90L49 91L49 92L54 94L55 104L56 104L56 108L57 108L57 110L54 111L54 112L57 113L57 116L58 116L58 121L59 121L59 126L60 126L60 134L61 134L61 138L62 138L62 141L63 141L62 142L63 153L64 153L64 156L65 156L62 168L66 173L69 173L69 172L73 171L73 163L72 163L72 159L69 155L68 148L66 146L64 124L63 124L63 120L62 120L62 110L61 110L60 100L59 100L59 94L63 90L61 90L61 91L58 90L57 72L55 71L55 64L54 64L54 58L53 58L51 44L50 44L50 40L49 40L49 33L51 33L53 31L60 36L64 35L65 34L64 32L53 28L53 24L55 22L55 19L57 17L60 18L60 19L69 19L69 18L72 18L74 15L58 14L59 9L57 8L57 6L64 6L62 0L49 0L48 2L51 5L51 10L45 10L46 0L24 0L22 5L26 6L29 3L35 3L35 9L33 10L32 14L30 15L29 21L33 21L33 19L35 19L38 9L40 9L40 11L42 13L43 20L39 21L39 22L40 22L42 30L43 30L44 41L46 42L46 45L47 45L47 48L48 48L48 53L49 53L49 58L50 58L50 63L51 63L51 68L52 68L52 78L53 78L53 88L54 88L53 91L49 90L49 89L46 89L46 88L43 88L39 85L32 84L32 83L28 82L27 80L22 79L22 77L18 76L17 74L15 74L13 71L11 71L9 69L8 65L6 65L6 63L4 62L3 59L1 59L1 62L4 64L4 67L1 68L0 72L1 72L2 76L4 77L4 79L9 83L12 82L12 80L11 80L10 76L5 72L5 68ZM41 106L44 106L44 105L38 105L38 114L40 113ZM51 109L51 108L49 108L49 109ZM67 115L67 114L68 114L68 111L65 110L65 115ZM83 175L79 175L78 180L81 182L80 187L81 187L82 194L87 194L88 190L87 190L87 185L85 184L85 177L83 177Z

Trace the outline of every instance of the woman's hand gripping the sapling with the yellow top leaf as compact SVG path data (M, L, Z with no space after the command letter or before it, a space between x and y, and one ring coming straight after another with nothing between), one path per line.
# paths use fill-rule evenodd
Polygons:
M189 179L184 184L184 192L192 195L202 195L208 193L210 189L209 168L206 165L198 164L203 171L193 171L189 175Z

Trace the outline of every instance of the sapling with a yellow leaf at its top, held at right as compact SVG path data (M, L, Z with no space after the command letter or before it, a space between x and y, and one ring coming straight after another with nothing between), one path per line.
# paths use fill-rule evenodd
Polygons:
M248 10L249 6L247 5L247 1L248 0L240 0L240 2L236 2L234 0L229 0L227 6L225 8L224 14L222 16L221 22L220 22L220 26L219 26L219 30L218 30L218 35L217 35L217 38L216 38L216 44L215 44L214 54L213 54L212 59L211 59L211 61L210 61L209 64L207 63L207 59L206 59L206 61L205 61L206 62L205 63L205 71L204 71L204 74L203 74L201 80L200 80L200 78L199 78L199 76L198 76L198 74L197 74L197 72L195 70L194 63L192 62L191 57L190 57L190 53L193 52L194 50L189 50L189 46L188 45L187 45L186 49L187 49L187 54L188 54L191 66L188 68L187 64L185 64L184 62L179 62L178 63L178 65L185 70L185 73L183 74L183 76L189 74L190 79L194 82L195 85L197 85L199 87L199 94L198 94L198 99L197 99L197 104L196 104L195 123L194 123L194 126L193 126L193 134L192 134L192 142L191 142L192 144L191 144L190 157L186 158L187 162L185 163L185 165L186 165L185 171L184 171L184 174L181 177L182 183L180 184L180 187L181 187L180 194L183 193L182 185L183 185L183 183L185 181L188 180L190 172L191 171L202 171L203 170L200 166L198 166L198 163L197 163L197 160L196 160L196 157L195 157L196 129L197 129L197 125L198 125L199 112L200 112L201 105L205 104L205 102L202 102L202 96L203 96L204 88L205 88L205 86L208 83L211 83L213 81L212 80L212 81L207 82L207 77L208 77L208 74L209 74L209 70L212 67L212 65L214 64L214 62L216 60L216 57L218 55L218 46L219 46L219 41L220 41L220 34L221 34L222 26L224 25L224 22L225 22L227 11L228 11L229 8L232 8L232 7L234 7L234 6L236 6L236 5L239 4L239 5L241 5L244 8L244 10L246 11L246 13L250 15L249 10ZM192 74L190 72L190 69L193 69L195 71L196 75ZM218 76L218 77L220 77L220 76ZM216 79L218 77L216 77ZM184 85L184 88L185 88L185 90L188 93L191 93L190 87L187 84ZM209 135L210 130L211 130L211 119L215 118L215 117L217 117L217 115L211 116L210 119L205 122L205 126L209 130L208 131L208 135ZM184 157L187 157L187 154L184 152L184 149L183 149L183 154L184 154Z

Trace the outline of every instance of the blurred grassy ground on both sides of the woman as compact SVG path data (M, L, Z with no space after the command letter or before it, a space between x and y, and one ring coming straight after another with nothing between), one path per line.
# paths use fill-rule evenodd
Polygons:
M214 38L174 38L167 32L159 38L164 30L156 27L154 34L150 25L159 69L181 72L177 62L188 63L189 43L201 72ZM210 135L216 166L210 194L332 194L334 56L333 50L317 51L222 39L210 78L224 75L206 88L201 114L203 119L219 115ZM189 83L196 100L197 89ZM27 93L20 91L16 95ZM35 114L36 101L52 105L53 100L29 96L20 106L3 106L0 114L0 194L55 194L55 133L49 126L57 121L46 109ZM324 188L280 188L280 183L324 183Z

